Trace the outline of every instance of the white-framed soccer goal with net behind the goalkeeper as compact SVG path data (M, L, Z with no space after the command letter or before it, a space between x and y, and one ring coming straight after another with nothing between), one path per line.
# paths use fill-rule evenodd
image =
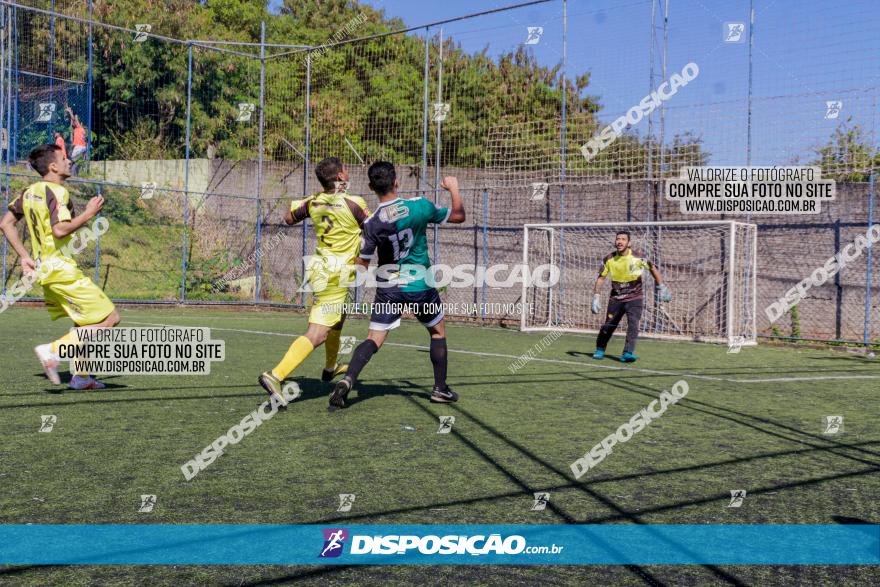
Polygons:
M599 330L610 277L599 314L590 311L593 285L620 230L632 235L632 249L654 263L672 292L672 301L661 302L644 272L643 336L755 344L758 227L733 221L526 224L523 263L530 271L555 265L559 281L523 286L522 330Z

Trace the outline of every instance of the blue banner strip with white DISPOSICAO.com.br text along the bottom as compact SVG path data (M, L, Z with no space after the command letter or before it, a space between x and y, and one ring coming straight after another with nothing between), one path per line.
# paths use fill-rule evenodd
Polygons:
M4 565L865 565L878 525L0 525Z

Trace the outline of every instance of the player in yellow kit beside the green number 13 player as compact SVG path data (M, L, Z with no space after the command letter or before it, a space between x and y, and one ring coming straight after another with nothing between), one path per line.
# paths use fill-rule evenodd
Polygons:
M339 338L345 322L344 304L349 301L348 284L361 244L361 227L370 215L367 203L360 196L345 192L348 170L342 161L329 157L318 163L315 175L324 191L304 200L296 200L284 218L296 224L311 218L318 239L315 255L306 268L306 279L312 289L312 309L306 333L290 345L284 358L274 369L260 375L259 382L269 395L286 404L281 395L281 382L311 354L324 344L323 381L345 373L348 365L338 365ZM340 277L343 277L340 283Z

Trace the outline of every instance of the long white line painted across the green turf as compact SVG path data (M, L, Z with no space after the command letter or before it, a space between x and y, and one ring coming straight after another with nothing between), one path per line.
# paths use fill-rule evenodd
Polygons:
M158 324L155 322L134 322L126 320L127 324L138 324L142 326L176 326L191 327L191 324ZM247 330L244 328L211 328L211 330L225 332L240 332L242 334L263 334L268 336L283 336L286 338L295 338L298 334L287 334L284 332L266 332L264 330ZM404 344L399 342L386 342L382 346L396 346L407 349L416 349L420 351L430 350L430 347L418 344ZM506 355L502 353L486 353L481 351L466 351L461 349L449 349L450 353L459 353L462 355L476 355L478 357L497 357L499 359L519 359L519 355ZM532 358L531 361L540 361L542 363L553 363L556 365L573 365L580 368L590 369L610 369L612 371L638 371L640 373L648 373L651 375L668 375L670 377L690 377L691 379L703 379L705 381L724 381L726 383L785 383L791 381L828 381L833 379L880 379L880 375L820 375L810 377L768 377L760 379L730 379L728 377L713 377L711 375L699 375L697 373L688 373L687 371L659 371L656 369L642 369L640 367L617 367L614 365L600 365L595 362L584 361L566 361L565 359L542 359L540 357Z

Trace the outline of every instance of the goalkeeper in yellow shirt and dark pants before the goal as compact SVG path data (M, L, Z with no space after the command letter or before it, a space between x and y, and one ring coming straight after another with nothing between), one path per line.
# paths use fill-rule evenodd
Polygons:
M636 357L636 341L639 338L639 320L642 317L644 307L644 292L642 290L642 272L647 269L654 278L654 283L661 302L672 299L669 288L663 283L660 272L651 261L645 259L641 253L633 252L630 248L630 233L621 230L614 238L614 252L602 260L602 269L596 278L593 287L593 314L601 310L599 304L599 289L605 283L605 278L611 275L611 296L608 298L608 310L605 314L605 323L599 330L596 338L596 351L594 359L605 358L605 347L611 340L611 335L620 324L620 320L626 316L626 342L620 360L624 363L634 363Z

